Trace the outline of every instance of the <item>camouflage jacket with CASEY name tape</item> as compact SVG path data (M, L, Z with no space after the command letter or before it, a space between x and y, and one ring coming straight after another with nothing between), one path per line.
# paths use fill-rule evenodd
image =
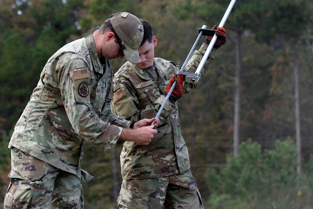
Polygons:
M195 50L185 69L194 73L207 49L202 44ZM200 79L209 68L216 49L201 70ZM141 69L126 62L113 78L114 100L112 112L131 121L153 118L164 102L162 95L170 79L180 71L180 66L173 62L154 58L154 71ZM184 93L196 88L197 84L184 82ZM145 179L183 173L190 168L188 150L180 132L177 102L169 100L159 117L158 133L147 146L132 142L124 144L121 153L121 169L124 180Z

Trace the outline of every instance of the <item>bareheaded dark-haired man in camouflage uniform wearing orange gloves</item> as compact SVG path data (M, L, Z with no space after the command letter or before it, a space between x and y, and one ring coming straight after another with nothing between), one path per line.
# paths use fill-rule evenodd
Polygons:
M157 39L149 23L141 22L144 28L143 41L138 49L141 62L126 62L113 78L112 112L131 121L156 116L166 96L164 89L170 88L174 75L181 69L171 61L154 58ZM217 29L218 39L201 70L200 80L216 49L226 42L226 31L216 26L214 29ZM211 39L212 36L207 37L200 50L193 52L185 70L196 71ZM182 74L178 75L177 78L182 78ZM177 80L181 95L198 85L182 82ZM117 199L118 208L203 208L180 132L178 98L171 94L159 116L158 133L148 145L125 142L120 156L123 183Z

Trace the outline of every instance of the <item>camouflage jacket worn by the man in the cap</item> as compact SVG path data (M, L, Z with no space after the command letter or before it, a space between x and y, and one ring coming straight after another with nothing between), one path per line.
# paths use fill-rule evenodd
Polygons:
M9 148L80 174L85 140L109 153L130 123L112 114L112 78L92 35L66 44L45 65Z

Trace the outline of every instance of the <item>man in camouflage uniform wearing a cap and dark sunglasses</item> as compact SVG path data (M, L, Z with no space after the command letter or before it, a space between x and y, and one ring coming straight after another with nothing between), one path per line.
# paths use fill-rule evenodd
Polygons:
M81 182L92 178L81 170L86 141L107 153L126 140L149 144L157 133L151 123L159 119L131 123L110 108L109 60L140 62L142 38L139 19L117 13L48 60L9 143L12 170L4 208L83 208Z

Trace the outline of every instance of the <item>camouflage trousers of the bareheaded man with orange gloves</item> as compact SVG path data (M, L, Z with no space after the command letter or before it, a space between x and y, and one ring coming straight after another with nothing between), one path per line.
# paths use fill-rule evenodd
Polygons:
M118 209L203 209L190 170L160 178L123 180L117 203Z

